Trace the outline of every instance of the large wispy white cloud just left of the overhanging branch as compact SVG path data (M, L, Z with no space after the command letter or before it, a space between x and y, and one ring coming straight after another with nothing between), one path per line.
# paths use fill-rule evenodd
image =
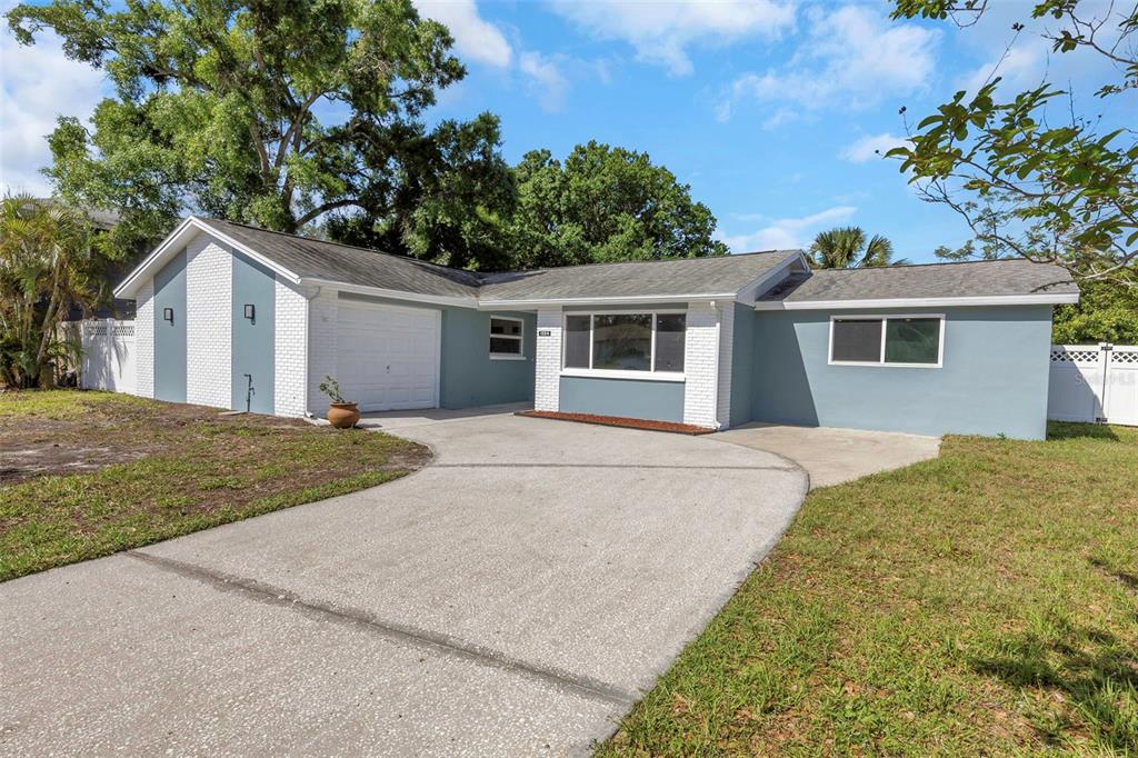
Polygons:
M716 115L729 118L745 98L803 110L861 108L882 99L925 89L935 71L939 33L917 24L891 22L867 6L834 11L814 8L802 44L781 67L749 73L729 86ZM785 123L787 118L783 118Z

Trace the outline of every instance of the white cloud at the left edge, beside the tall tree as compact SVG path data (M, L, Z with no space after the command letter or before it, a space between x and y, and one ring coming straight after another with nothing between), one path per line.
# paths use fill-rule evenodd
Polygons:
M55 34L41 32L23 47L0 32L0 188L44 195L39 170L51 163L44 139L58 116L86 121L102 99L104 75L68 60Z

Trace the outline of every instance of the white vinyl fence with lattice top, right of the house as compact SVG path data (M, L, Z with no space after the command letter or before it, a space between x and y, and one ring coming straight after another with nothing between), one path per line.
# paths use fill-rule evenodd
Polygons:
M1052 345L1047 418L1138 426L1138 345Z

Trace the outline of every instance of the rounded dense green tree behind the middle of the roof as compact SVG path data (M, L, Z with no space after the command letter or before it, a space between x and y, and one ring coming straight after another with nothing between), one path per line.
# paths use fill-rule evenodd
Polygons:
M512 267L726 255L715 216L648 155L594 141L564 162L527 153L514 168L518 207L506 224Z

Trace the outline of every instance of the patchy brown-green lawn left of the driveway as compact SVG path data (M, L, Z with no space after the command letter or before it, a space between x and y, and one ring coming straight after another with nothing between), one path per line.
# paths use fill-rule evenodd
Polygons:
M0 395L0 580L402 477L424 447L125 395Z

